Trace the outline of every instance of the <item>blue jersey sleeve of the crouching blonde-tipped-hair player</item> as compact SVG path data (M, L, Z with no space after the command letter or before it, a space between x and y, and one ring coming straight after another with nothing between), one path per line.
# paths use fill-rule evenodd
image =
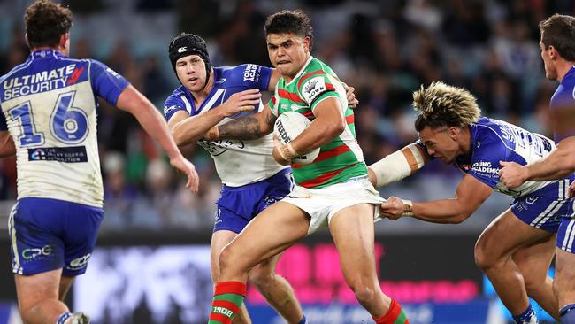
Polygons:
M472 166L467 174L494 188L499 182L499 161L508 161L508 149L502 141L490 138L475 144L472 155ZM521 162L521 161L513 161ZM525 164L525 161L521 164Z

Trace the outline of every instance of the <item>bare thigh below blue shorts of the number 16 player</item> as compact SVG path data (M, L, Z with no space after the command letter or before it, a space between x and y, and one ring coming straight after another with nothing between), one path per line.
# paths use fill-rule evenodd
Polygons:
M32 275L15 274L20 309L27 310L45 299L58 299L61 274L62 269Z

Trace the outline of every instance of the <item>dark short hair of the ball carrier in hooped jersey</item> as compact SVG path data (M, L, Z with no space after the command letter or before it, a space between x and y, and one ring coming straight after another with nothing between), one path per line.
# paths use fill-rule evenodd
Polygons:
M300 9L282 10L269 15L264 25L265 37L270 34L291 33L300 37L310 37L310 50L313 43L313 27L308 15Z

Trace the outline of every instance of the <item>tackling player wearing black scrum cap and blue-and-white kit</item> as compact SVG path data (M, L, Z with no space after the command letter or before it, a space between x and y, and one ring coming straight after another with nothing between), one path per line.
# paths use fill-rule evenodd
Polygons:
M273 91L280 73L253 64L211 66L205 41L188 33L173 38L169 56L182 85L166 99L165 119L176 143L197 141L210 152L223 182L211 238L211 273L213 281L218 282L222 249L259 212L286 197L293 180L289 167L280 166L272 158L272 135L247 141L208 141L203 135L211 127L263 110L260 91ZM349 96L357 102L353 93ZM255 266L249 280L288 323L305 323L293 289L275 274L279 258ZM249 323L245 306L234 323Z

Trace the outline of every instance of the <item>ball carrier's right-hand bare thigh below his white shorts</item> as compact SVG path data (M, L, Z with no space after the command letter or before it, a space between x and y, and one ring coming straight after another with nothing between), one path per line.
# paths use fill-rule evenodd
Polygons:
M329 222L348 282L357 276L377 281L373 212L372 204L354 204L336 212Z

